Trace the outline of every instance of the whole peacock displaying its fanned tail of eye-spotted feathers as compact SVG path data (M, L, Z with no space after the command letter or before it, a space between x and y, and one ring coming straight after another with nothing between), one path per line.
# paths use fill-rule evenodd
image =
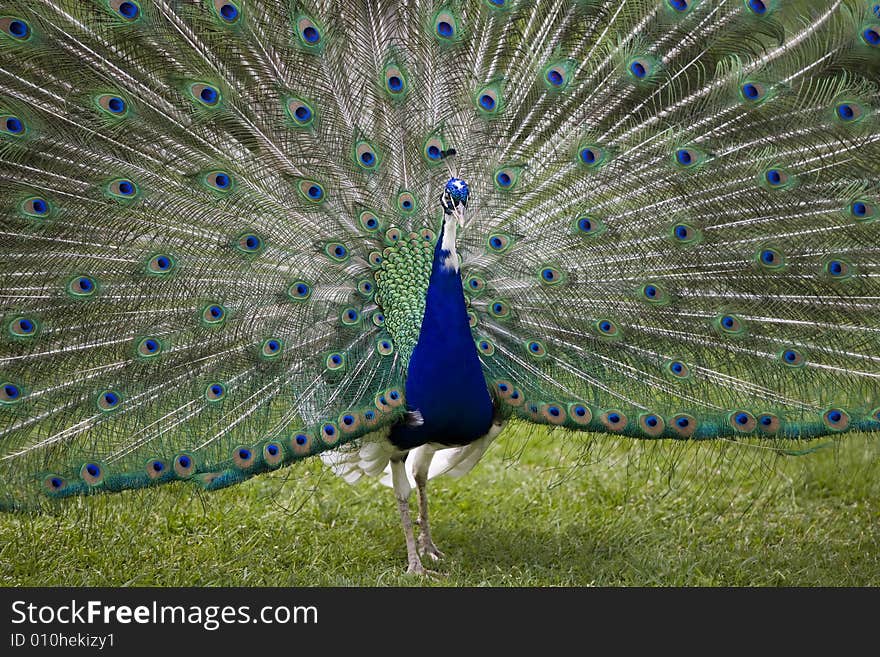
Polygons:
M862 0L4 2L0 507L320 455L424 574L510 424L878 429L878 80Z

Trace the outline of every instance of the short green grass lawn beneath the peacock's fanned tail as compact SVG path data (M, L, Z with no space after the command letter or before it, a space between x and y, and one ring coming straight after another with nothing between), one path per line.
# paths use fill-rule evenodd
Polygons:
M731 443L530 437L431 487L445 577L403 574L392 493L312 459L237 488L0 515L0 584L880 585L880 439L804 456ZM802 449L805 445L798 445Z

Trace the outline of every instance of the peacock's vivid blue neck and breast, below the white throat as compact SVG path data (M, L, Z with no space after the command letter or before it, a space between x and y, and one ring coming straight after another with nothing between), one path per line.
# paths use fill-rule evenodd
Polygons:
M461 274L445 267L445 224L434 262L419 340L407 368L406 403L424 424L398 426L391 441L403 448L428 442L466 445L489 431L492 399L471 334Z

